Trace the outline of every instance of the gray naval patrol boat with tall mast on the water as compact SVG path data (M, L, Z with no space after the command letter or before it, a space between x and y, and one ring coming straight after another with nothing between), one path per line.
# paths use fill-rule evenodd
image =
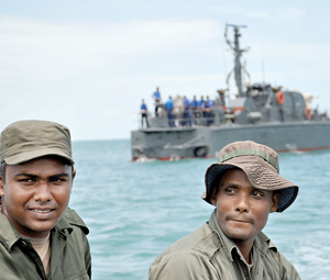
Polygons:
M233 27L234 41L227 36ZM183 98L174 98L174 120L163 110L157 116L148 115L148 126L131 132L133 161L151 158L177 160L188 157L215 157L227 144L254 141L277 152L316 150L330 148L330 121L327 113L311 109L312 96L283 90L268 83L254 83L243 90L242 74L246 74L240 48L242 25L226 25L226 41L234 54L238 93L229 99L227 90L218 90L211 108L186 108ZM229 85L229 74L227 83Z

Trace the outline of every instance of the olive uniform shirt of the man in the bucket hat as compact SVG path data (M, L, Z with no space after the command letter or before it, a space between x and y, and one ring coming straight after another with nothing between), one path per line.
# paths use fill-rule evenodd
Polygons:
M260 233L252 248L253 266L220 229L217 210L208 223L165 249L150 268L150 280L298 280L294 266Z

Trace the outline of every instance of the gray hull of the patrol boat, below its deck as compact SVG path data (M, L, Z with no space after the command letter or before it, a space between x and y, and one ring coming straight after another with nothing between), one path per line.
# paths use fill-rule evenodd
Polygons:
M254 141L278 153L330 148L330 122L288 122L194 127L158 127L131 132L132 160L215 157L227 144Z

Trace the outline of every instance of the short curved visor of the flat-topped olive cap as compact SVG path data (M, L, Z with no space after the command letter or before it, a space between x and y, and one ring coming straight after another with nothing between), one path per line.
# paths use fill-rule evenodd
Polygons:
M73 165L75 164L74 159L65 154L63 150L59 150L57 148L43 148L43 149L36 149L36 150L29 150L24 153L20 153L18 155L13 155L11 157L6 158L6 164L8 165L19 165L32 159L36 159L38 157L44 156L59 156L67 160L69 160Z

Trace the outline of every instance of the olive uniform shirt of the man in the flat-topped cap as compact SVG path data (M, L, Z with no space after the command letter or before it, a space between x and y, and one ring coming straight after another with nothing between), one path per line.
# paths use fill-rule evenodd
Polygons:
M85 280L90 279L91 258L82 220L70 209L51 231L51 275L45 276L42 260L31 243L0 213L1 280Z

